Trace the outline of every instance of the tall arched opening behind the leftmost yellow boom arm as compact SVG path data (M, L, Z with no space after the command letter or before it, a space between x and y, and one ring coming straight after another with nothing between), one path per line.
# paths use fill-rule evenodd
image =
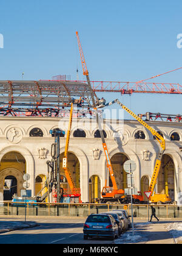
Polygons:
M61 174L61 187L64 188L65 193L71 193L69 183L67 182L64 169L62 168L62 158L64 153L60 155L60 174ZM68 152L67 155L67 167L70 170L70 174L72 176L73 182L76 185L76 188L80 188L80 168L79 168L79 160L75 154ZM67 191L66 191L67 190Z

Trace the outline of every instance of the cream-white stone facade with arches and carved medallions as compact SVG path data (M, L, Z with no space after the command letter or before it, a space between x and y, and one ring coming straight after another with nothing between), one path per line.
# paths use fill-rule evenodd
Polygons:
M8 152L19 152L19 154L25 158L26 172L29 173L31 177L30 190L32 190L32 196L34 196L35 177L39 174L47 176L46 162L52 158L50 151L51 144L54 143L54 138L49 134L49 131L59 127L59 129L65 130L67 134L69 118L21 118L1 116L0 121L0 162L2 157ZM94 132L97 130L96 120L92 120L90 130L88 128L89 122L90 119L85 118L83 126L80 125L80 122L77 127L76 124L73 123L69 143L69 152L74 154L79 160L80 187L83 202L89 201L89 177L99 177L101 190L104 187L106 178L106 157L104 155L103 144L101 138L94 138ZM108 123L108 121L106 121L106 123ZM164 154L170 155L174 161L175 200L177 200L178 193L182 190L182 138L180 141L170 141L169 136L174 131L180 131L181 123L150 121L147 122L147 124L153 129L163 132L164 137L166 138L166 151ZM107 124L107 126L109 126L109 124ZM29 137L29 131L34 127L40 128L44 132L44 137ZM103 128L105 127L103 126ZM153 140L153 136L151 136L150 132L137 121L125 120L124 122L120 122L112 120L110 127L112 127L112 130L109 131L106 129L106 143L109 156L112 158L113 155L121 153L126 155L130 160L135 161L135 187L138 188L138 191L141 191L141 178L144 176L149 177L150 182L157 158L157 152L160 151L160 145L157 140ZM73 130L75 129L83 129L86 132L86 138L74 138ZM134 135L138 130L142 130L145 133L145 140L134 138ZM119 137L115 136L116 133ZM64 152L65 144L66 136L60 138L60 154ZM2 180L5 175L3 171L4 170L0 171L0 180ZM14 172L16 171L14 170ZM0 197L0 200L2 200L2 196Z

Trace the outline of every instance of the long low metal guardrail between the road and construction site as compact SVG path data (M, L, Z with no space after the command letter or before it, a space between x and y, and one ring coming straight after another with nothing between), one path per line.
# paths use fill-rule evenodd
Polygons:
M178 205L153 205L158 218L182 218L182 206ZM58 203L38 203L26 202L27 216L74 216L87 217L92 213L104 213L112 210L127 209L131 215L131 205L121 204L58 204ZM25 202L0 202L0 215L24 216ZM149 218L151 214L150 205L133 205L133 217Z

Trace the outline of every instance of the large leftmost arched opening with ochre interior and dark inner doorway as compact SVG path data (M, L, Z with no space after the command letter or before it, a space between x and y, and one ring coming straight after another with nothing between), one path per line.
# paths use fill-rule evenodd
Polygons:
M22 176L26 172L25 158L16 151L8 152L1 159L0 176L2 177L3 200L12 200L13 194L21 196Z

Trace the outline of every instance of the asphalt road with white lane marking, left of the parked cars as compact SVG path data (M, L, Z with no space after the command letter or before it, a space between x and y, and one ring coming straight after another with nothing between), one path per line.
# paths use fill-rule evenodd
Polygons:
M8 221L8 220L7 220ZM11 219L12 221L12 219ZM19 220L20 221L20 220ZM22 221L24 221L22 219ZM35 221L32 220L31 221ZM38 227L0 235L0 244L111 244L110 240L83 240L85 219L36 219Z

